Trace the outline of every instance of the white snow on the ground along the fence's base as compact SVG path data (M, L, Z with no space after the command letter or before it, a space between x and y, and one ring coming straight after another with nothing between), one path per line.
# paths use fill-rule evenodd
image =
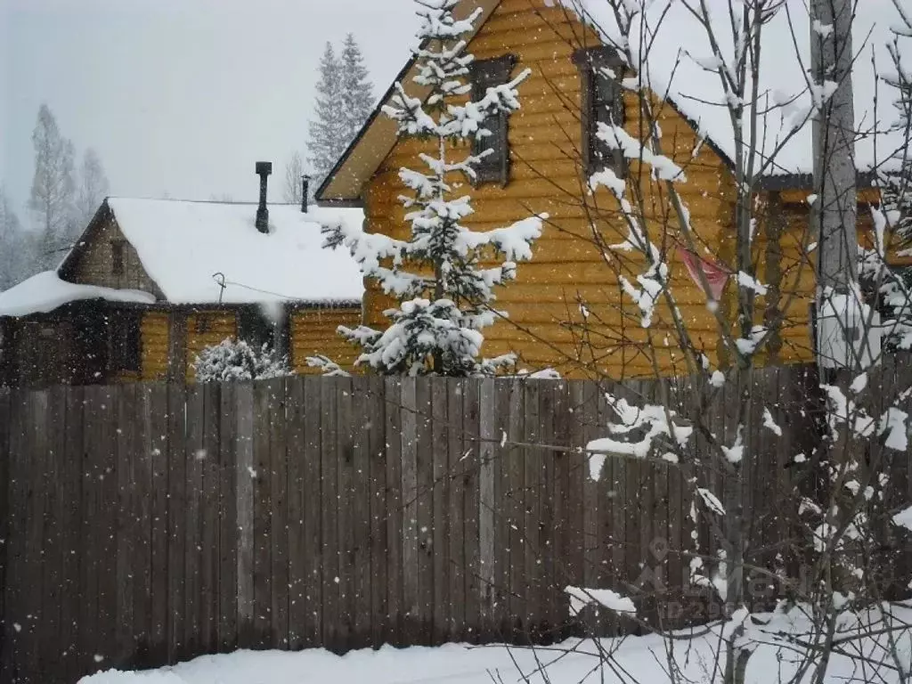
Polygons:
M908 621L912 611L907 606L896 606L896 617ZM769 616L763 617L768 619ZM793 674L794 652L781 648L774 635L780 631L805 628L806 625L787 620L782 616L773 617L769 626L752 630L752 637L760 643L751 657L746 681L753 684L789 681ZM868 628L875 630L882 623L874 621ZM849 627L850 630L852 627ZM865 631L868 631L865 628ZM850 633L855 633L854 631ZM718 629L710 637L698 637L689 642L675 642L676 657L680 668L689 681L709 682L708 674L718 648ZM910 642L907 632L895 631L898 638L897 650L901 653L904 668L908 668ZM870 666L872 660L891 662L885 658L886 637L879 637L881 643L867 637L863 642L852 642L850 650L864 644L868 664L850 661L835 656L828 670L828 683L848 684L849 682L895 682L896 674L887 667ZM109 671L81 680L80 684L492 684L503 680L503 684L522 682L523 675L532 684L544 681L536 674L536 658L547 667L547 680L552 684L577 684L578 682L643 682L662 684L668 681L665 674L666 652L663 642L655 636L603 639L601 645L606 651L615 650L615 662L605 668L598 668L593 655L596 648L592 641L567 641L551 648L538 648L535 652L525 648L467 647L448 645L440 648L385 647L378 651L360 650L338 657L325 650L312 649L300 653L281 651L238 651L224 656L205 656L174 668L161 668L139 673ZM689 646L691 648L689 648ZM565 656L565 651L573 653ZM513 663L521 668L517 670ZM617 672L623 672L618 679ZM805 678L810 680L810 678ZM718 680L718 678L717 678Z

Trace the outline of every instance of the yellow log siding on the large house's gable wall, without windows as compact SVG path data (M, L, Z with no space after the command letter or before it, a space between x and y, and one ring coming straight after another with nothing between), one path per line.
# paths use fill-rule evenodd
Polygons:
M622 319L619 269L606 264L602 250L592 243L583 198L589 210L597 206L606 218L598 222L606 244L619 243L626 235L621 233L620 222L612 220L617 216L605 210L615 206L606 191L592 198L582 192L580 164L575 159L582 132L581 80L571 57L575 47L597 43L595 34L561 7L549 7L544 0L503 0L469 46L479 59L513 54L517 57L514 73L529 67L532 76L520 86L522 109L510 119L511 181L506 187L485 184L474 189L463 183L461 189L472 195L475 209L466 225L486 230L522 219L530 212L548 212L551 216L534 246L533 261L520 264L516 282L498 291L497 305L509 313L510 320L485 330L483 352L490 357L517 351L527 368L556 366L571 377L580 374L575 368L577 362L588 363L594 358L599 370L615 376L622 370L628 377L646 375L651 374L652 361L637 347L648 346L648 339L631 317L636 312L629 300L624 301L627 320ZM636 134L640 117L635 96L627 95L625 109L627 130ZM733 256L731 174L709 146L703 146L697 158L690 160L697 135L674 109L665 105L658 120L663 151L687 168L688 181L679 189L700 241L717 244L723 256ZM408 234L404 210L398 202L399 194L405 192L398 170L414 166L416 154L423 150L428 150L427 143L406 139L390 152L366 192L368 230L396 237ZM638 173L636 165L633 167L631 179ZM647 205L655 207L652 218L662 221L668 212L667 198L645 185L644 191ZM681 312L711 356L719 342L705 297L677 257L670 254L669 260L674 264L673 286ZM632 260L623 266L623 272L635 276L637 268L636 260ZM583 323L578 298L586 300L593 314L590 324L594 320L606 322L592 337L599 341L585 342L565 325ZM382 311L389 303L376 287L369 289L367 322L378 324L383 320ZM659 340L665 337L668 322L667 313L659 311L654 324ZM622 345L614 339L622 327L628 341L639 341L639 345ZM657 349L656 355L662 368L684 370L679 350Z

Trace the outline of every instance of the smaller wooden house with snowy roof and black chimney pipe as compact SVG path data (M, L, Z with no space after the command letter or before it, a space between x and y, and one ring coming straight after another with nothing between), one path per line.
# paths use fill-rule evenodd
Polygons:
M265 209L265 223L257 221ZM109 198L56 271L0 294L0 384L192 380L204 347L268 343L354 360L363 281L327 223L358 210Z

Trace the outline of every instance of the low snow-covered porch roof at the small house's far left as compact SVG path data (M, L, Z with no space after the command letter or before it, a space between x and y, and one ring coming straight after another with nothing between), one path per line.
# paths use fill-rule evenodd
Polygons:
M0 316L46 314L58 306L88 299L152 304L155 297L137 290L113 290L95 285L76 285L61 280L56 271L44 271L19 285L0 292Z

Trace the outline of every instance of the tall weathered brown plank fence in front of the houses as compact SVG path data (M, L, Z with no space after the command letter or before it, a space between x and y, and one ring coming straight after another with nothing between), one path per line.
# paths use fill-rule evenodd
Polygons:
M758 548L788 534L776 501L814 440L795 409L811 375L765 371L751 392L748 437L767 459L749 477ZM578 449L604 433L601 389L289 378L0 390L0 682L234 648L564 637L566 585L680 586L691 528L677 470L612 460L600 482L587 477ZM767 405L784 431L768 444ZM714 427L731 432L725 406Z

